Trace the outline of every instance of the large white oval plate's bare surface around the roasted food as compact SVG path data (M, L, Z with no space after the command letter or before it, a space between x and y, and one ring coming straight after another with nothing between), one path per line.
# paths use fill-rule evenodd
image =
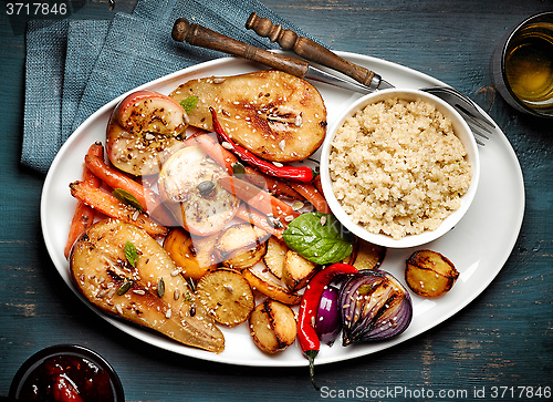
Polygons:
M380 73L396 87L416 89L441 85L442 82L405 66L361 54L338 52L343 58ZM190 79L209 75L232 75L259 70L259 64L240 59L219 59L198 64L153 81L139 89L169 94L178 84ZM345 90L316 83L328 111L332 125L342 110L361 97ZM111 111L124 95L104 105L88 117L63 144L46 175L41 199L41 225L44 241L63 280L82 298L71 282L69 264L63 256L75 199L69 184L81 179L84 155L88 146L105 143L105 126ZM319 154L315 154L319 155ZM404 342L439 324L461 310L480 295L501 270L514 247L524 214L524 184L517 156L504 134L494 130L484 147L480 148L481 177L474 200L465 218L452 230L436 241L425 245L444 254L457 267L460 277L451 291L436 300L413 296L414 319L410 327L397 338L378 343L356 344L343 348L340 340L328 348L321 346L316 364L343 361L374 353ZM405 260L414 251L388 249L382 269L404 281ZM260 367L306 365L295 346L281 353L269 355L261 352L250 338L248 326L222 329L226 349L220 354L189 348L149 330L114 319L82 300L114 327L153 346L213 362ZM115 334L115 332L114 332Z

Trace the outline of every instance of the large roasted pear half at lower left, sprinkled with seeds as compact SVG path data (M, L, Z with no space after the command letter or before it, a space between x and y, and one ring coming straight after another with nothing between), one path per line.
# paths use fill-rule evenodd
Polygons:
M223 351L222 332L145 230L123 220L100 220L75 243L70 262L77 289L101 310L184 344Z

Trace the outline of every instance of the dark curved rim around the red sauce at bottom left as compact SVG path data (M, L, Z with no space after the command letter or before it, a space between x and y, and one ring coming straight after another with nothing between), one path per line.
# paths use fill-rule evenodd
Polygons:
M21 392L21 388L25 383L29 375L49 358L53 358L56 355L75 355L84 359L91 360L93 363L101 367L103 370L107 372L109 380L112 382L114 398L115 401L125 401L125 392L123 389L123 384L121 382L119 377L115 372L115 369L109 364L109 362L104 359L100 353L95 352L92 349L80 344L54 344L46 347L44 349L39 350L29 357L23 364L19 368L13 377L13 380L10 385L9 398L10 401L19 401L19 394Z

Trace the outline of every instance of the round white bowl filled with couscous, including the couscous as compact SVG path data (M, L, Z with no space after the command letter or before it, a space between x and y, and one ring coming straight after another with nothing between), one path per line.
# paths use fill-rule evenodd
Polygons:
M417 90L363 96L337 117L321 154L325 198L354 235L416 247L448 233L469 209L480 161L465 120Z

